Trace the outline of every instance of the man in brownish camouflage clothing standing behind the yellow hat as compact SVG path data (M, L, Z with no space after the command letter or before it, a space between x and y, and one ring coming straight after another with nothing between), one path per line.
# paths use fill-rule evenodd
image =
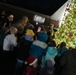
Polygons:
M25 29L27 28L27 23L28 17L23 16L22 19L14 25L18 29L18 40L24 35Z

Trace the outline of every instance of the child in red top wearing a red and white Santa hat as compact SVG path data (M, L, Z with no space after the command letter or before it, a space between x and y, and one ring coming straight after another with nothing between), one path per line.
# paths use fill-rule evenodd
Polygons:
M28 65L26 66L26 69L24 71L24 75L36 75L36 68L38 66L38 59L30 56L27 59Z

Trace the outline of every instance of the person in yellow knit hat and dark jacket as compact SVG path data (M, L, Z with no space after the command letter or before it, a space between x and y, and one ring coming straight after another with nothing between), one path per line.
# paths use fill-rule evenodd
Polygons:
M27 30L25 36L23 36L18 44L17 51L17 65L15 75L22 75L23 65L29 57L29 49L33 42L34 32Z

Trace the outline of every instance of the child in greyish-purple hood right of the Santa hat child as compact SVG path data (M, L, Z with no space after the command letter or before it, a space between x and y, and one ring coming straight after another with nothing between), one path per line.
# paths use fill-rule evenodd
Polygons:
M47 60L45 67L40 70L39 75L54 75L54 64L55 62L53 59Z

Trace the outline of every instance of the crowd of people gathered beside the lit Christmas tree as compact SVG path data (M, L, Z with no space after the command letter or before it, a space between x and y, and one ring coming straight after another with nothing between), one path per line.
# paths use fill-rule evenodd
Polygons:
M38 30L38 26L41 29ZM33 25L27 16L14 22L13 14L0 13L1 75L76 75L76 49L53 39L49 31Z

